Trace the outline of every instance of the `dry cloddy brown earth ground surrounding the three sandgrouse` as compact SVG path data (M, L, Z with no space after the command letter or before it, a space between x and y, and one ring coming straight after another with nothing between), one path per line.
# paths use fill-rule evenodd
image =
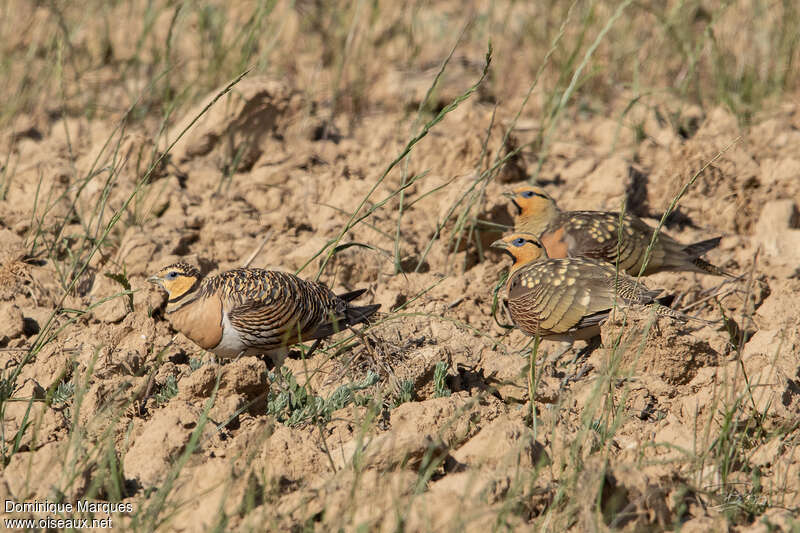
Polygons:
M251 16L242 5L229 22ZM60 27L55 7L17 7L25 31L6 39L9 57ZM740 7L713 19L734 56L726 29ZM130 502L113 518L144 531L798 527L794 86L743 118L713 98L637 92L612 72L583 83L553 120L558 74L566 84L576 68L559 52L515 120L547 51L515 40L514 19L535 8L383 6L375 20L358 15L371 29L351 35L309 26L323 8L303 2L268 15L283 21L268 66L193 123L241 70L201 75L213 57L193 12L174 29L172 8L152 20L137 3L104 9L63 41L61 86L36 81L53 55L8 71L29 69L38 96L15 93L0 131L4 500ZM709 23L700 9L692 24ZM489 76L379 181L481 78L489 34L473 27L425 100L464 22L482 15L510 28L491 35ZM566 10L558 16L551 36ZM596 16L589 41L613 11ZM648 16L631 11L619 31ZM119 20L129 35L102 31ZM170 31L173 80L126 62L155 64L152 43ZM148 36L140 48L137 35ZM341 43L333 58L326 38ZM656 43L642 46L658 58ZM604 44L593 61L613 65L612 52ZM648 83L672 86L680 63L669 57ZM193 79L177 111L162 105L159 90L174 96ZM561 346L544 342L531 386L530 339L492 312L508 261L487 245L513 214L501 193L538 181L563 208L626 203L655 225L695 176L665 231L687 243L722 235L707 258L742 277L645 283L716 324L620 314L588 354L577 343L556 361ZM332 245L354 213L368 216ZM382 312L361 336L341 333L308 359L298 350L283 370L256 357L216 362L175 335L165 295L145 282L177 259L305 277L324 266L321 281L367 288L361 302Z

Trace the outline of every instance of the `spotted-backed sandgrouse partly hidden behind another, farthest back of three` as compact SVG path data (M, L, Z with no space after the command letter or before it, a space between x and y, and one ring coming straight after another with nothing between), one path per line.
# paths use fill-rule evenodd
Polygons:
M539 238L551 258L588 257L617 263L620 270L638 276L654 228L640 218L625 214L622 231L619 213L604 211L562 211L541 187L525 185L504 193L514 207L514 231ZM700 256L719 245L720 237L682 244L663 232L658 233L642 275L668 270L686 270L728 276Z

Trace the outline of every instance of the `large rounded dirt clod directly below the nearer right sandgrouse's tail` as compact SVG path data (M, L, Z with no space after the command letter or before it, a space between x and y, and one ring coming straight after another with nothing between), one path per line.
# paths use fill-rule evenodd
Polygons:
M717 364L719 354L708 342L688 333L682 323L655 316L653 310L630 309L623 326L623 313L616 313L601 327L603 346L611 350L618 344L616 356L623 372L684 385L698 368Z

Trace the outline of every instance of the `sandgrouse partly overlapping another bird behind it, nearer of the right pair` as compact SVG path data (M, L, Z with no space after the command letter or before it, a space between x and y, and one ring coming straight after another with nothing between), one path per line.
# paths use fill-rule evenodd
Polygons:
M547 256L536 236L514 233L492 243L514 264L508 274L508 310L514 324L531 336L561 341L587 340L617 306L650 305L661 292L649 290L608 263ZM667 307L659 314L681 318Z

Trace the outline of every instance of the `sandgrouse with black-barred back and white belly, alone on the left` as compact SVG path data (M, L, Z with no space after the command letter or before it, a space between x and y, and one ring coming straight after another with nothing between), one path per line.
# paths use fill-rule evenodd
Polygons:
M276 366L289 346L364 322L380 307L350 305L365 289L336 295L321 283L260 268L204 278L175 263L148 281L167 291L173 327L201 348L225 358L265 354Z

